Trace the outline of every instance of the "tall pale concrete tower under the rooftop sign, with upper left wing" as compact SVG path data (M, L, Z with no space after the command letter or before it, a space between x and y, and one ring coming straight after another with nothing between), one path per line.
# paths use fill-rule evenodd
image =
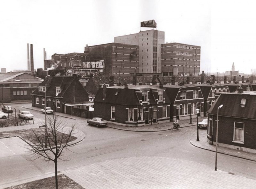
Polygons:
M115 43L139 46L139 70L137 73L161 73L161 44L164 32L158 30L140 31L115 37Z

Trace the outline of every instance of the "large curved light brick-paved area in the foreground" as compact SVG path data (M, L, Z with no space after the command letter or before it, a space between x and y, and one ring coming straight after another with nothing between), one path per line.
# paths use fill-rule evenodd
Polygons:
M256 180L167 157L112 159L62 171L86 189L253 188Z

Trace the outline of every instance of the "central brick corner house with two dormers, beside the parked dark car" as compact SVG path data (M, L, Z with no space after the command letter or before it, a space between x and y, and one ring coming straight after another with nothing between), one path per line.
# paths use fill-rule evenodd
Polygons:
M170 103L162 87L103 85L94 99L94 117L126 126L169 122Z

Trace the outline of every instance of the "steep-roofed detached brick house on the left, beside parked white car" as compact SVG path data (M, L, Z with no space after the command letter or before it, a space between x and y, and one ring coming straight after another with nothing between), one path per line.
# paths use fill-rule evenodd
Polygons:
M46 94L45 94L46 91ZM57 112L65 112L65 103L88 101L88 93L79 82L76 74L73 76L46 76L45 81L31 94L32 106L46 106Z

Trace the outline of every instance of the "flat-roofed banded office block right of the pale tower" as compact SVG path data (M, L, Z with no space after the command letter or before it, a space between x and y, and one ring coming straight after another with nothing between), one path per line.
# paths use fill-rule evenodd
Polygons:
M182 43L162 44L164 76L199 76L201 47Z

